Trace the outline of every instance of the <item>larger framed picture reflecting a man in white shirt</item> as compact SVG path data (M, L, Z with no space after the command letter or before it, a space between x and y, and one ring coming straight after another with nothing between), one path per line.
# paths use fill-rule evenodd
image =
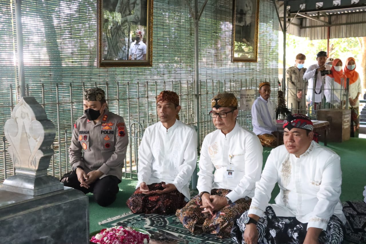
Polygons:
M97 67L152 66L153 0L97 0Z

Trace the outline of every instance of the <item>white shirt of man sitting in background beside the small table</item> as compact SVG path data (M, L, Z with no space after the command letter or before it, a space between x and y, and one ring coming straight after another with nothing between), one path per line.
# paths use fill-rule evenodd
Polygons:
M276 113L271 100L259 96L255 99L252 110L253 132L256 135L272 134L276 131Z

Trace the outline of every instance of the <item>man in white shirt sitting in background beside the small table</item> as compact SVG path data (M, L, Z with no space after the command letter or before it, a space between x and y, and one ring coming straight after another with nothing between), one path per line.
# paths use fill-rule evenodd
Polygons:
M269 100L270 94L269 82L259 84L259 97L255 99L251 110L253 132L264 147L277 146L276 113Z

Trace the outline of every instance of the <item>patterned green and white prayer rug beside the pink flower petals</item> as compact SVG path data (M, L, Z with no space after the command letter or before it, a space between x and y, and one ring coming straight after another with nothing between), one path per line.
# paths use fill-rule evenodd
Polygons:
M105 227L112 227L116 225L127 225L134 228L158 231L164 230L184 240L189 241L189 244L232 244L230 238L221 239L212 234L193 234L183 227L179 219L175 215L159 215L159 214L126 214L113 218L109 218L100 225Z

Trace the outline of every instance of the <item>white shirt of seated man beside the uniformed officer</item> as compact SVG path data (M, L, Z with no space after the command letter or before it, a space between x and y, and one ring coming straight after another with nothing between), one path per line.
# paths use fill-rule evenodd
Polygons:
M190 199L189 182L197 164L197 133L179 120L166 129L161 122L146 128L138 151L138 188L172 183Z

